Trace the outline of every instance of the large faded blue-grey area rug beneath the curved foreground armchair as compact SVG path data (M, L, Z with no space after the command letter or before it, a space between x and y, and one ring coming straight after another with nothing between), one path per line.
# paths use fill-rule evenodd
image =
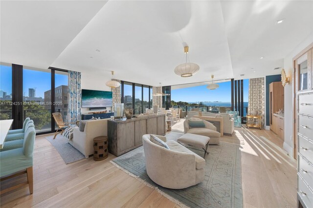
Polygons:
M177 140L182 134L171 132L168 140ZM221 142L220 145L209 146L206 156L204 181L198 185L183 188L164 188L154 183L146 172L143 146L140 146L112 162L139 180L159 189L172 201L182 203L191 208L240 208L243 207L241 183L241 151L240 145ZM191 149L203 156L203 152Z

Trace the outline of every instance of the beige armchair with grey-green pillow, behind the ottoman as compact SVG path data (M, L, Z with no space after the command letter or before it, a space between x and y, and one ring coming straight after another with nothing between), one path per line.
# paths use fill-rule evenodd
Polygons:
M218 145L220 144L221 133L216 131L216 127L208 121L203 121L204 128L190 128L189 120L192 121L203 121L198 118L190 118L184 121L184 133L197 134L202 136L210 137L209 145Z

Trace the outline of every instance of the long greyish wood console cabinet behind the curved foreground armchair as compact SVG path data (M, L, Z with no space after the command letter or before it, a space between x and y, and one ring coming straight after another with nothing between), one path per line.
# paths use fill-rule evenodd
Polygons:
M165 115L108 121L109 152L115 156L142 146L144 134L164 136Z

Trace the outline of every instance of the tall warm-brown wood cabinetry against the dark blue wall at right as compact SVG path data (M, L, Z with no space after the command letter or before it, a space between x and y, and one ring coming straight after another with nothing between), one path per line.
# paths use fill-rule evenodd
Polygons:
M279 109L284 109L284 87L281 82L269 84L269 127L270 130L277 132L277 123L275 124L274 113Z

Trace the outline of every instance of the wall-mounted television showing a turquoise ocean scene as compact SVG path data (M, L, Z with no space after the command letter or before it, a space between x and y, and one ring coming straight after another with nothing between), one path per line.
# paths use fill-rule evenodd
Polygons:
M112 107L112 92L82 89L82 107Z

